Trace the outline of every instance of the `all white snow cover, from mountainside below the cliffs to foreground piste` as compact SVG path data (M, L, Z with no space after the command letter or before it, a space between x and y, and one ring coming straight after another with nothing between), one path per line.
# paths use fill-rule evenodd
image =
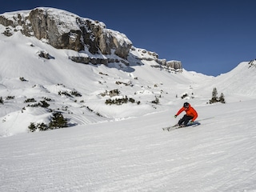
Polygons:
M256 61L211 77L134 46L120 58L9 32L0 25L0 191L256 190ZM214 88L226 104L208 104ZM183 102L201 125L163 131ZM54 112L69 128L28 134Z

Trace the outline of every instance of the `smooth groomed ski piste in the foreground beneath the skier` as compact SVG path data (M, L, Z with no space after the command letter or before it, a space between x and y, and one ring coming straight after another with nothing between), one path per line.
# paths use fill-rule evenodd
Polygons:
M170 132L158 126L170 119L164 111L1 138L0 190L255 191L256 129L248 122L256 108L218 109L200 126Z

